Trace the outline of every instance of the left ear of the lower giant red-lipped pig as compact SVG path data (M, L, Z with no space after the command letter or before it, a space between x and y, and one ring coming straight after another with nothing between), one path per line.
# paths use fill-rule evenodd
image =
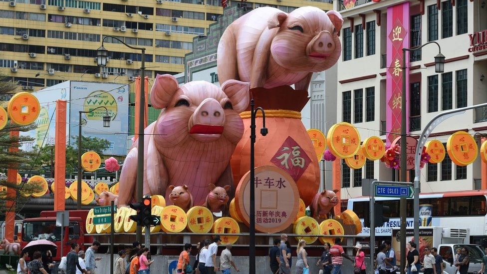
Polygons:
M154 108L161 109L168 106L173 95L178 91L178 80L170 74L157 74L151 90L151 104Z

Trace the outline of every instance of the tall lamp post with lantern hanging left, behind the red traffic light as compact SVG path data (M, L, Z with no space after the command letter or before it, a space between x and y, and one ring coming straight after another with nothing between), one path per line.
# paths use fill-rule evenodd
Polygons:
M144 111L145 111L145 47L131 46L119 38L112 35L105 35L101 40L101 46L96 51L98 66L106 66L108 58L108 50L103 47L103 43L107 37L118 40L120 43L126 45L129 48L142 51L141 65L140 65L140 108L139 108L139 132L137 138L138 151L137 151L137 202L142 202L142 191L144 186ZM137 133L136 133L137 134ZM142 229L137 226L137 241L142 241Z

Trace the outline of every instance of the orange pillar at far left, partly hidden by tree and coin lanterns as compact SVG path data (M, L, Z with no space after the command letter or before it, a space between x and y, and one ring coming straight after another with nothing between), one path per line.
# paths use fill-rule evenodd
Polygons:
M18 131L10 131L10 138L18 138ZM9 152L17 152L18 144L11 146ZM17 166L12 165L7 169L7 182L15 185L17 183ZM5 203L7 212L5 212L5 235L3 238L13 242L13 227L15 226L15 196L14 188L7 188L7 201ZM10 209L10 210L9 210Z

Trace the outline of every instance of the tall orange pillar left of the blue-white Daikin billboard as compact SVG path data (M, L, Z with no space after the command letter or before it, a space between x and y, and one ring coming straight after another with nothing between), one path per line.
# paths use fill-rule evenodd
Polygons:
M54 210L65 209L66 182L66 101L56 101L56 134L54 143Z

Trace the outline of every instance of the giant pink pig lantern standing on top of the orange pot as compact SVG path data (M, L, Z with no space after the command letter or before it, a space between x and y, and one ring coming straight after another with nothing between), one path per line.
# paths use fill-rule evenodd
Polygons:
M290 13L256 8L225 30L218 44L218 78L250 82L250 88L294 84L307 90L313 72L338 60L342 23L337 11L313 6Z

